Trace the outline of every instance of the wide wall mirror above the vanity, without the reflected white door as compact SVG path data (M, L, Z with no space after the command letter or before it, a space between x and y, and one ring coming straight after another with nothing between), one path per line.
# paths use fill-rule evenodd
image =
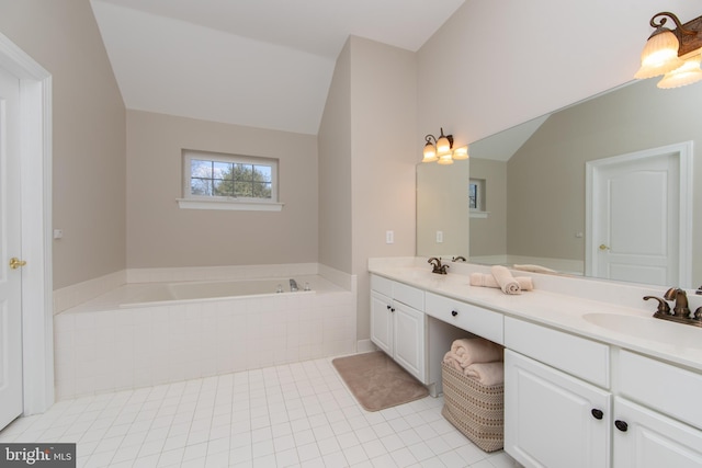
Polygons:
M595 258L586 261L591 249L587 163L683 142L691 142L693 160L702 148L701 102L699 84L660 90L656 80L635 81L475 141L467 161L444 167L419 163L417 254L539 264L568 274L639 282L624 273L616 277L592 271L588 262ZM683 172L692 172L690 186L680 194L692 207L689 227L683 228L691 239L691 254L684 282L689 284L677 285L697 287L702 284L702 190L695 182L702 181L702 162ZM478 192L484 195L483 210L468 209L468 180L483 184ZM649 213L650 203L638 204L626 212L634 220ZM593 216L599 215L590 219ZM638 232L658 231L667 224L653 219ZM646 283L673 286L665 279Z

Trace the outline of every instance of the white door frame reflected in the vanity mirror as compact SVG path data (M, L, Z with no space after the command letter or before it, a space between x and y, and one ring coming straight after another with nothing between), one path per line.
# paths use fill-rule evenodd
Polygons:
M678 230L678 283L677 285L667 285L690 288L692 287L692 155L693 142L683 141L658 148L645 149L642 151L629 152L626 155L614 156L611 158L597 159L586 162L585 170L585 274L592 276L596 271L593 265L597 261L597 241L593 232L596 231L595 206L598 195L595 192L595 176L598 169L614 163L631 162L646 158L654 158L661 155L677 155L679 170L679 230Z

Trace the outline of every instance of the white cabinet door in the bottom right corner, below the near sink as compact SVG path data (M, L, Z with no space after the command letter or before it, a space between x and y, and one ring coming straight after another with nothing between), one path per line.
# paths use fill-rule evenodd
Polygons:
M670 398L679 396L670 395ZM614 399L614 415L618 421L613 435L616 468L702 466L702 433L699 430L619 397Z

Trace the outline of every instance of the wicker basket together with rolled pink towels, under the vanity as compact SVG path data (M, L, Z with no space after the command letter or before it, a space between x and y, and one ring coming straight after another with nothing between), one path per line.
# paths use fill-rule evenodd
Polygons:
M441 364L441 414L485 452L502 448L503 349L483 338L455 340Z

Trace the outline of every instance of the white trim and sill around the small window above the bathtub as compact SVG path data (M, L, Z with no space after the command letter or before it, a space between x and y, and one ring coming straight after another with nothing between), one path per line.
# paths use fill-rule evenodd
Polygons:
M192 159L250 162L254 164L270 164L272 170L271 199L237 198L202 196L191 194L190 164ZM183 149L182 186L183 197L177 198L178 206L182 209L218 209L239 212L281 212L284 204L278 199L279 160L273 158L218 153L213 151L197 151Z

